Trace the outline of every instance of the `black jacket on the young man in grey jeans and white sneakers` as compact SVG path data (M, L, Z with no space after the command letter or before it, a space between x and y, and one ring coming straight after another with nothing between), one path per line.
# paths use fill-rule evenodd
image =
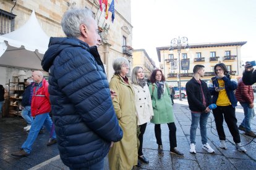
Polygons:
M208 91L207 83L201 81L203 94L205 95L206 107L203 105L203 95L200 84L193 77L186 84L187 102L189 102L189 109L191 111L205 111L205 109L212 103L210 91Z

